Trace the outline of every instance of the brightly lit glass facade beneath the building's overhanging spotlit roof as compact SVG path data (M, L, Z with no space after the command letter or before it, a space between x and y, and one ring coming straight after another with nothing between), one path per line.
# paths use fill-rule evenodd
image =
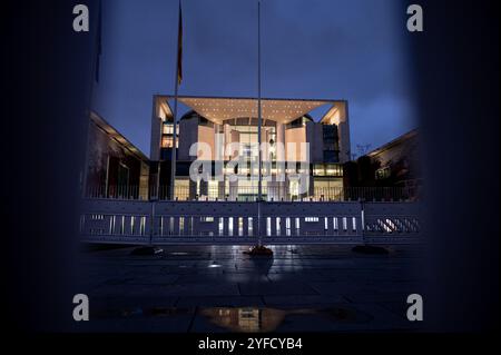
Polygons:
M184 125L178 125L177 137L179 137L179 127L181 129L197 129L197 136L186 135L188 139L196 139L207 142L215 148L222 144L225 149L228 145L237 145L237 152L228 152L223 149L223 152L213 154L212 159L219 159L223 161L224 179L222 181L215 180L214 177L214 161L213 161L213 180L209 181L191 181L186 169L176 168L176 188L175 197L179 200L187 199L208 199L208 200L255 200L258 195L258 171L257 159L259 156L258 147L258 119L252 117L240 117L224 120L212 121L195 111L186 114L183 120L188 120ZM262 142L268 144L262 151L263 161L263 177L262 180L262 196L265 200L298 200L301 198L321 199L340 196L337 189L343 186L343 168L340 161L340 145L338 130L336 125L326 125L323 122L315 122L308 115L304 115L289 122L277 122L272 119L263 119L262 122ZM205 127L202 129L202 127ZM207 129L206 127L213 128ZM312 136L312 132L314 136ZM214 134L214 138L212 135ZM185 138L186 139L186 138ZM174 127L169 121L164 121L161 126L161 149L160 159L170 160L170 152L173 149ZM315 158L312 150L310 157L304 161L323 161L322 164L312 164L310 167L304 167L301 162L296 167L284 166L279 162L287 161L288 152L287 142L301 145L307 144L308 140L315 145ZM195 141L196 142L196 141ZM284 152L279 149L277 142L284 144ZM181 142L181 149L187 149L193 142L188 140ZM179 139L177 146L179 147ZM218 147L218 146L217 146ZM217 148L216 148L217 149ZM236 167L228 167L229 160L240 156L240 160ZM179 152L178 152L179 156ZM215 158L215 157L218 158ZM298 160L302 154L296 154ZM188 158L177 161L190 162ZM278 161L279 160L279 161ZM284 162L285 164L285 162ZM252 169L254 167L254 169ZM285 171L283 170L285 169ZM169 169L163 169L164 174L169 174ZM183 172L181 172L183 171ZM285 172L282 178L281 172ZM310 176L306 191L294 175L303 174ZM230 181L229 175L236 175L237 181ZM279 177L279 178L277 178ZM267 179L269 178L269 180ZM161 184L167 183L167 180ZM328 193L326 190L330 190ZM299 194L301 193L301 194ZM284 226L285 226L284 221Z

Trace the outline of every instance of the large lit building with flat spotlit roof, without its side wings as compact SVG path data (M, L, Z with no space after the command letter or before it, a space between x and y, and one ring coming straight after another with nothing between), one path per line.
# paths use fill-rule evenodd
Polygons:
M159 198L171 195L176 141L176 199L255 200L258 168L252 161L258 159L258 100L179 97L178 102L189 110L178 118L176 139L171 101L168 96L154 98L149 184L158 188ZM312 111L322 114L315 120ZM194 144L199 148L193 149ZM346 101L263 99L262 144L263 199L340 199L343 164L351 150ZM237 167L230 164L236 158ZM210 164L210 176L190 179L194 160ZM297 174L306 176L306 190L293 178Z

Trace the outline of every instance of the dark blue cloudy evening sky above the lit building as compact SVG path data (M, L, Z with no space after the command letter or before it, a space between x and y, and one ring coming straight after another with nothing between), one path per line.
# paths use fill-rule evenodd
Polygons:
M177 3L104 1L94 107L146 155L153 95L174 93ZM353 151L416 126L399 0L262 3L263 97L348 100ZM179 95L255 97L257 1L184 0L183 14Z

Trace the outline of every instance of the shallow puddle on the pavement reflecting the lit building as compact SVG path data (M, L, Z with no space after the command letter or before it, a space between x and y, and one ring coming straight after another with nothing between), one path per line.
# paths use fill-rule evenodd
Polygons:
M372 316L350 307L328 308L203 308L200 314L212 324L235 333L268 333L281 324L292 322L292 316L323 317L344 324L363 324Z

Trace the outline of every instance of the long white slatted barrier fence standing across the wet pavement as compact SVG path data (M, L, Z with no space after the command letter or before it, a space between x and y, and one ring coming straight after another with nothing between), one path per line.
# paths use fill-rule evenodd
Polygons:
M168 244L406 244L419 203L139 201L85 199L84 241ZM261 218L259 218L261 216Z

